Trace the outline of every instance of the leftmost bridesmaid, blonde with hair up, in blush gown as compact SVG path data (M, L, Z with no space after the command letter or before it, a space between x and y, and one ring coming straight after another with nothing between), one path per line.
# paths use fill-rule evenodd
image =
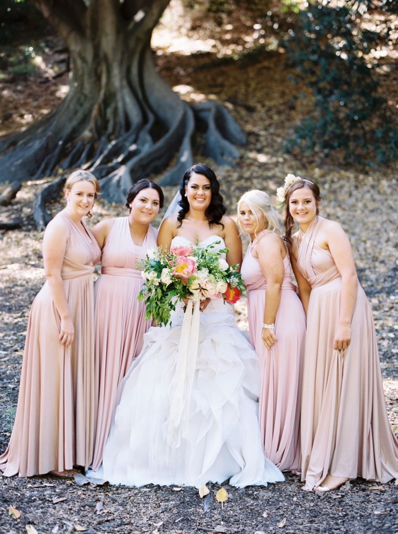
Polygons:
M43 238L46 282L30 311L18 406L5 476L87 468L94 431L93 265L100 249L84 217L99 193L94 176L75 171L65 184L67 206Z

